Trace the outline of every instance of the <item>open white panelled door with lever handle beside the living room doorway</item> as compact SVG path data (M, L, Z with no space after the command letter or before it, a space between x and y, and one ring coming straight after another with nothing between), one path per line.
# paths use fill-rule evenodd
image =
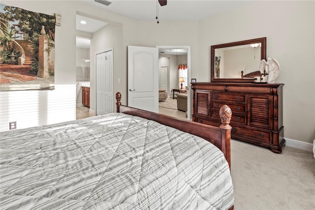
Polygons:
M158 48L128 46L128 106L158 113Z

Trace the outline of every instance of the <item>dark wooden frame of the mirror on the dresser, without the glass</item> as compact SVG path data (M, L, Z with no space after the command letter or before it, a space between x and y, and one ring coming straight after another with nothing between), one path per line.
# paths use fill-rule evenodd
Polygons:
M260 52L260 60L266 60L266 46L267 46L267 38L254 38L244 41L236 41L225 44L217 44L211 46L211 62L210 62L210 73L211 73L211 82L254 82L254 78L215 78L215 49L223 48L223 47L233 47L245 44L253 44L253 43L261 43L261 52ZM241 77L241 74L240 74Z

